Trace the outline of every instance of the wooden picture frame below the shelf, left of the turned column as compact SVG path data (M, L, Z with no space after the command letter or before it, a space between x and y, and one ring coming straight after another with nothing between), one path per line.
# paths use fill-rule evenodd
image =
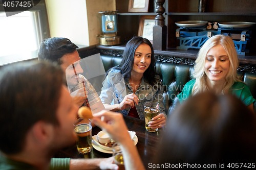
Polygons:
M155 26L156 15L140 16L138 36L150 40L153 44L153 27Z

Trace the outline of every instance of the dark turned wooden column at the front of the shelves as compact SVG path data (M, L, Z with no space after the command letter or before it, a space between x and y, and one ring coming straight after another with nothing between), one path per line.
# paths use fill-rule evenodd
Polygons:
M156 25L153 27L153 48L154 50L166 50L167 27L164 25L163 16L165 0L155 0L155 2L157 16L155 17Z

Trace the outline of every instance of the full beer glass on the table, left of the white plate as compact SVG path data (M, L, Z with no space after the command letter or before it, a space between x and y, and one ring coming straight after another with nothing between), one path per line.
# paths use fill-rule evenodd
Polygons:
M77 119L74 131L76 132L76 147L80 154L86 154L92 150L92 122L89 118Z

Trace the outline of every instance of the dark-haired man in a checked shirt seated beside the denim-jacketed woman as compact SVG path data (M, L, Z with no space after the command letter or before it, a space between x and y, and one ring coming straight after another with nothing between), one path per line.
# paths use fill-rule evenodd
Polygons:
M65 79L72 100L78 106L91 107L92 112L95 113L105 108L91 83L80 75L83 69L81 68L80 57L76 48L78 46L68 38L48 38L40 44L38 60L59 64L63 72L65 72ZM85 92L87 95L84 94Z

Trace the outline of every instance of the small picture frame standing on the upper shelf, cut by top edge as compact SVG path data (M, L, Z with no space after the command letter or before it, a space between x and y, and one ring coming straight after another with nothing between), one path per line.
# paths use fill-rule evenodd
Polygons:
M150 0L129 0L128 12L148 12Z

